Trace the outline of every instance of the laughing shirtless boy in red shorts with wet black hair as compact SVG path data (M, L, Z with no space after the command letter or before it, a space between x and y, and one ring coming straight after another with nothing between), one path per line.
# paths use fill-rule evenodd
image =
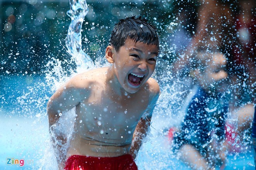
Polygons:
M110 44L106 48L110 67L74 76L48 102L50 127L60 113L76 108L73 137L67 154L58 155L59 168L67 158L67 170L137 169L134 159L160 93L150 78L159 41L147 20L133 16L119 20Z

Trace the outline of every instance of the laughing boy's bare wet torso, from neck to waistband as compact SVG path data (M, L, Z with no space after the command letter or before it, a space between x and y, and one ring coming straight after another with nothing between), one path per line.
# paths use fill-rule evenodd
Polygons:
M137 93L116 95L105 83L104 69L88 77L93 82L90 94L76 106L69 155L113 157L129 153L133 132L149 105L146 86L150 85L146 83Z

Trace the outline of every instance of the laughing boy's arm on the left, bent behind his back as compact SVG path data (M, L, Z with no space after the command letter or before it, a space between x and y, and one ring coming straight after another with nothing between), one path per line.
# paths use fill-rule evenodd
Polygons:
M79 104L82 98L81 88L77 87L72 79L60 87L47 103L47 114L49 121L49 132L51 141L56 149L56 158L59 168L63 169L66 159L67 142L61 125L57 123L62 112L67 111Z

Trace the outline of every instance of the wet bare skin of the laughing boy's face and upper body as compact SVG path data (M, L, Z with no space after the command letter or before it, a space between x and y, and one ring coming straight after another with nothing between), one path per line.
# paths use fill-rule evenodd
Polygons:
M80 73L54 93L48 102L49 126L58 112L76 107L67 157L120 156L130 153L132 142L137 145L134 139L147 131L159 96L159 85L150 78L157 54L157 46L130 39L118 52L108 46L110 67ZM145 112L147 119L142 119Z

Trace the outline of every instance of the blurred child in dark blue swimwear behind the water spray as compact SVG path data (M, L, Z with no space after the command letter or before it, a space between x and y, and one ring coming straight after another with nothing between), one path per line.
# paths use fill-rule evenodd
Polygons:
M228 103L225 85L227 58L218 51L202 49L192 58L191 75L197 80L180 131L174 136L174 149L193 169L212 169L223 164L221 142L225 140ZM224 92L224 93L223 93Z

